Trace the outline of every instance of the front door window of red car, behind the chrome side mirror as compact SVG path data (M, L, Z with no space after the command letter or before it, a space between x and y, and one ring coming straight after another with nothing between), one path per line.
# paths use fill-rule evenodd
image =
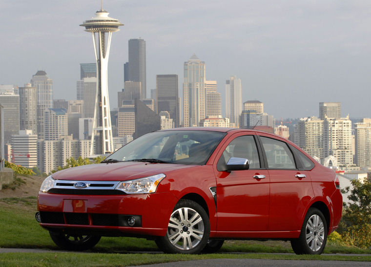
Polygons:
M218 169L226 164L231 157L246 158L249 163L249 169L259 169L259 153L253 135L239 136L233 139L218 161Z

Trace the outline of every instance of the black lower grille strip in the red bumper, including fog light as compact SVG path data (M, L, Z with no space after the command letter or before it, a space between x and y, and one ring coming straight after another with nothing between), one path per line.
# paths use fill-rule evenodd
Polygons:
M40 211L40 216L41 223L44 224L72 224L91 226L129 226L127 224L127 220L129 217L134 217L136 221L134 227L142 226L142 216L140 215ZM89 223L89 218L91 224Z

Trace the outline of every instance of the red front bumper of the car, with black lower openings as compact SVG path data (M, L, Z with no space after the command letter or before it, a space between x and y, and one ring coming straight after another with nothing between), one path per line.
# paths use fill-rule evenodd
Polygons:
M127 195L39 193L41 227L102 236L164 236L178 199L169 192ZM133 227L129 217L136 218Z

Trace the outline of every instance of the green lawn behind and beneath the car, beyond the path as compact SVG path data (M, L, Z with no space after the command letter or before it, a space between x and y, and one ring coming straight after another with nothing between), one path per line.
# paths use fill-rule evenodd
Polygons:
M48 231L42 229L36 222L36 204L36 197L0 199L1 248L59 249L51 240ZM154 241L143 238L102 237L101 241L91 251L96 253L125 253L128 251L158 250ZM226 241L220 252L293 253L290 243L283 241ZM371 254L371 249L348 248L328 244L325 253ZM0 254L0 258L2 257L3 255Z

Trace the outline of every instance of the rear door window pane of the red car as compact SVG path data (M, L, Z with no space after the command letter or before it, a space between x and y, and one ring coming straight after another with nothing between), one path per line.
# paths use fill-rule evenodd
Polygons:
M260 136L267 156L268 169L296 169L294 157L285 142Z

